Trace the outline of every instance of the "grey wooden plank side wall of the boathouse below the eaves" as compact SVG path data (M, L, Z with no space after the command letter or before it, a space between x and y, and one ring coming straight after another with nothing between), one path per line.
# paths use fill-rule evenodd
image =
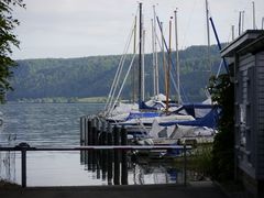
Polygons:
M239 166L255 178L256 165L256 97L255 97L255 56L246 54L237 59L237 147Z

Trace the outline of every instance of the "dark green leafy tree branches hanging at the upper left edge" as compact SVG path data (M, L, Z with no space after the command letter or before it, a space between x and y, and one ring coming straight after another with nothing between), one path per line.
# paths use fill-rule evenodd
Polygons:
M12 16L14 7L24 8L23 0L1 0L0 1L0 103L4 101L8 90L11 90L10 77L11 68L15 66L15 62L10 57L12 46L19 47L19 40L13 33L19 20Z

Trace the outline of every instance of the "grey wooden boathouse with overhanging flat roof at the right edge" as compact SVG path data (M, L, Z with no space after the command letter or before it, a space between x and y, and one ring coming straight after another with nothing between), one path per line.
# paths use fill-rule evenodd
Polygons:
M264 195L264 31L248 30L221 51L234 82L235 166L255 197Z

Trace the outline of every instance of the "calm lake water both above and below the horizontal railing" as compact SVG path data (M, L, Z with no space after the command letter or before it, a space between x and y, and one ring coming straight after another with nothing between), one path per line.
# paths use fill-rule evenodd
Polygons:
M79 118L100 111L99 103L10 103L0 106L4 124L0 145L78 146ZM20 184L20 153L0 154L0 176ZM129 184L176 183L180 176L164 165L130 165ZM28 152L28 186L111 185L100 170L87 170L79 152ZM178 177L178 178L177 178Z

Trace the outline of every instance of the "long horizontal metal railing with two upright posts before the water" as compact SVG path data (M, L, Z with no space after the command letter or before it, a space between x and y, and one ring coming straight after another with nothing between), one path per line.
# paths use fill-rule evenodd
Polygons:
M76 147L31 147L26 143L20 143L13 147L0 147L0 152L21 152L21 186L26 187L26 152L28 151L96 151L96 150L113 150L113 151L140 151L140 150L179 150L184 155L184 185L187 183L187 155L186 152L191 150L190 145L92 145Z

